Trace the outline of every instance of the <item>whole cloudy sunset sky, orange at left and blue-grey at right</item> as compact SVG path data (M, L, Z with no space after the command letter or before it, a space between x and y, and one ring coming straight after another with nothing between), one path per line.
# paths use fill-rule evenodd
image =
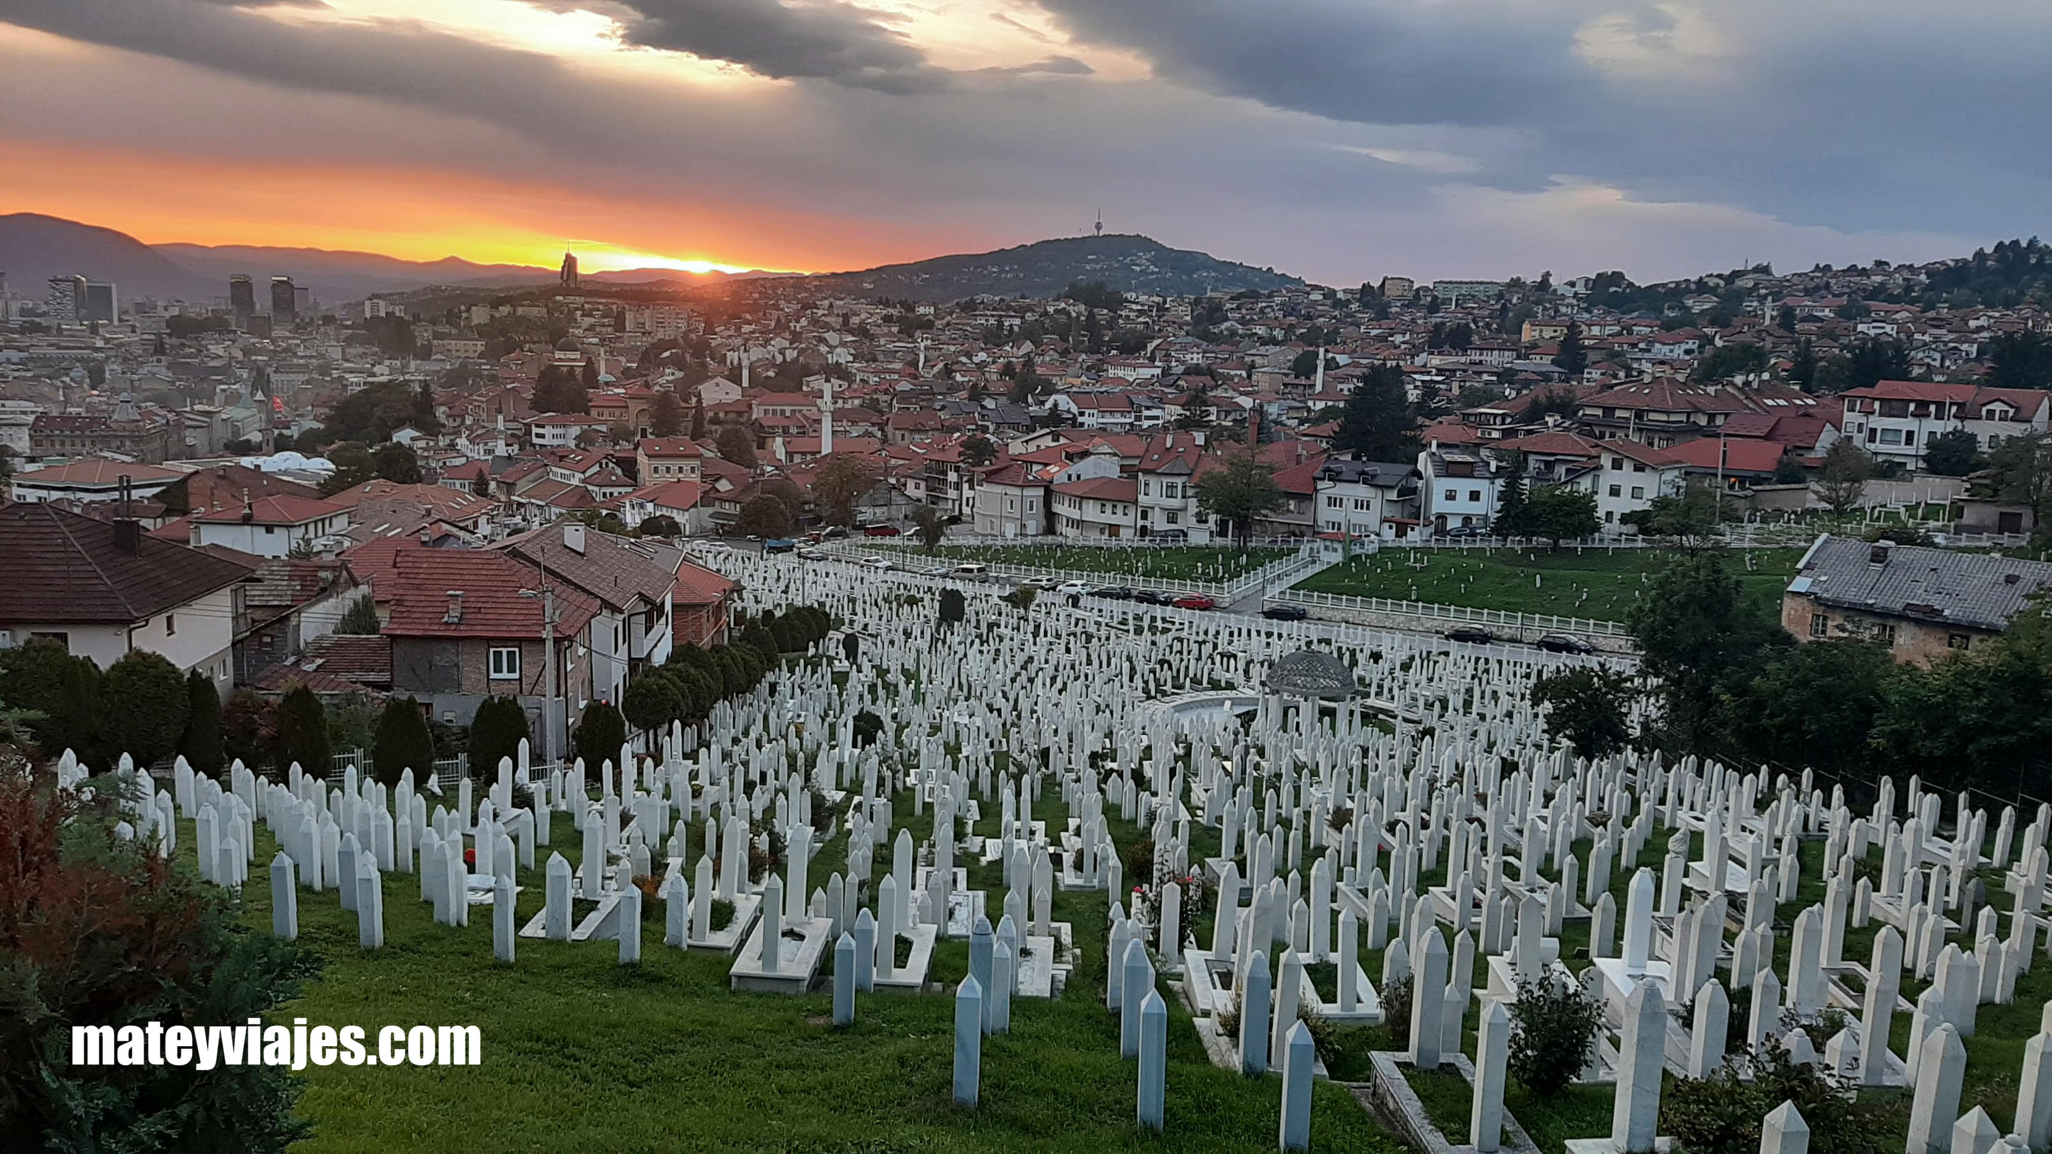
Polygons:
M2048 43L2044 0L0 0L0 211L587 267L1100 209L1326 283L1929 259L2042 230Z

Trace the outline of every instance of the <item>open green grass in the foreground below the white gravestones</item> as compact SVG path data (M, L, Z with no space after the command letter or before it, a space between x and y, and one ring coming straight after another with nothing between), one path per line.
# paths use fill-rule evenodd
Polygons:
M923 840L932 817L897 813ZM554 821L554 846L579 838ZM1120 842L1137 838L1114 825ZM259 862L275 844L259 828ZM193 846L191 823L181 846ZM540 848L536 864L548 860ZM889 854L889 848L884 848ZM845 836L811 867L815 885L845 862ZM1001 895L997 867L971 867ZM540 869L521 871L525 922L542 908ZM312 1025L476 1025L478 1068L310 1068L300 1109L304 1154L384 1150L1262 1150L1274 1146L1280 1082L1213 1068L1180 1002L1170 1002L1168 1127L1133 1123L1135 1066L1118 1057L1104 1000L1104 893L1055 895L1075 926L1081 965L1059 1000L1014 1000L1012 1033L985 1039L977 1109L952 1101L954 1000L946 994L858 998L837 1031L831 994L737 994L731 957L661 945L644 922L642 963L620 967L614 943L521 938L515 965L490 951L490 908L470 926L437 926L415 875L386 877L386 947L363 953L355 914L334 893L300 895L302 940L324 975L277 1016ZM269 877L252 867L244 920L269 928ZM936 951L934 977L958 982L964 943ZM1395 1142L1336 1084L1313 1092L1315 1150L1393 1152Z

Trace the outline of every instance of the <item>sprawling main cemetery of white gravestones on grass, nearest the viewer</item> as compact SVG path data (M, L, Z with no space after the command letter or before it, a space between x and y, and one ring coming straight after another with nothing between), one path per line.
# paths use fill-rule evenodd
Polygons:
M322 957L291 1016L480 1027L300 1150L2052 1150L2044 805L1584 760L1582 657L726 565L837 632L599 764L55 764Z

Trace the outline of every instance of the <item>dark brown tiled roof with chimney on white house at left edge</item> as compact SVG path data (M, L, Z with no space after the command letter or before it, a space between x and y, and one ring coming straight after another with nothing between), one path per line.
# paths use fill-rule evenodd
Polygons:
M0 622L137 622L236 581L252 565L137 532L135 552L115 524L49 505L0 507Z

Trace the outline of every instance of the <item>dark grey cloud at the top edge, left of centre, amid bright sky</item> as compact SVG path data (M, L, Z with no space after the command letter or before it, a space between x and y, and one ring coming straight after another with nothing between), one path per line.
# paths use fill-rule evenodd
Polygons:
M776 80L831 80L878 92L925 92L946 86L948 72L884 14L817 0L624 0L628 43L689 51L739 64Z

